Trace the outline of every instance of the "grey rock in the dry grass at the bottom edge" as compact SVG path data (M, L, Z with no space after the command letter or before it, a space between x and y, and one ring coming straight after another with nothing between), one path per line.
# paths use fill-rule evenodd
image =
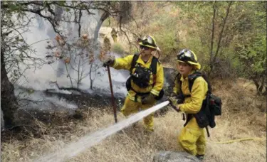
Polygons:
M195 162L198 158L187 152L159 151L155 154L153 162Z

